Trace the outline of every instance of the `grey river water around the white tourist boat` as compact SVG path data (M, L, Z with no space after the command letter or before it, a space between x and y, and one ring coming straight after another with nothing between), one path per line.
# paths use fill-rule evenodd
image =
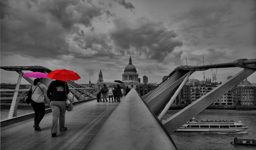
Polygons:
M174 115L179 110L169 110L164 120ZM196 120L233 120L242 121L247 130L237 133L211 133L211 132L174 132L171 133L176 147L182 149L252 149L255 146L243 146L230 144L235 137L256 139L256 111L236 110L204 110L195 116Z

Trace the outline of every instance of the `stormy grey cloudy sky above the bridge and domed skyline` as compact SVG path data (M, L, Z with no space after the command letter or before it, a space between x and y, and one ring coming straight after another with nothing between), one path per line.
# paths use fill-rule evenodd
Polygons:
M73 70L79 84L96 83L102 70L113 82L130 55L141 81L156 83L177 66L203 65L203 57L205 65L255 59L256 1L1 1L1 66ZM240 70L218 69L217 81ZM203 80L203 72L191 77ZM17 80L1 69L1 83ZM256 83L256 73L248 80Z

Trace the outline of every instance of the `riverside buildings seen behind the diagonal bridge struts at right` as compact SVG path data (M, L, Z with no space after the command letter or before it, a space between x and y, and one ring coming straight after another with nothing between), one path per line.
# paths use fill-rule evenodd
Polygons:
M229 76L230 77L230 76ZM229 78L228 77L228 78ZM210 79L206 81L189 80L179 92L173 105L191 104L204 96L221 83L211 82ZM239 85L230 89L227 93L221 96L211 105L256 105L256 84L251 84L247 79L242 81Z

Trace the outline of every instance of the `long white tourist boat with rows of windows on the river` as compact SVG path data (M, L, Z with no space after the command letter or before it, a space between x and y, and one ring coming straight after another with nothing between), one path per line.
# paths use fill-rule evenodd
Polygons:
M192 118L176 131L186 132L240 132L246 130L241 121L197 121Z

